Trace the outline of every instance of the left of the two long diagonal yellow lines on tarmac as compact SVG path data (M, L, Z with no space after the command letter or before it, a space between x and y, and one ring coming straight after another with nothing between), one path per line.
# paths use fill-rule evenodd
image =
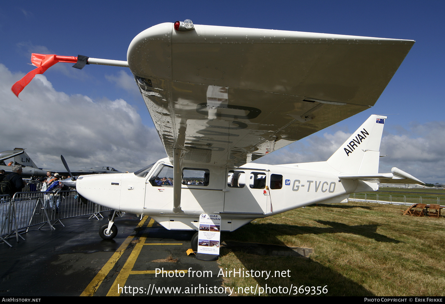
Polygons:
M144 216L142 220L139 222L138 227L142 227L142 225L147 220L148 216ZM153 219L150 220L154 222ZM130 242L133 240L134 236L128 236L125 241L122 243L122 245L117 248L116 252L113 253L113 256L110 257L110 259L105 263L105 265L102 267L102 269L97 273L97 275L94 277L94 279L88 284L88 286L85 288L85 290L81 293L81 296L93 296L94 293L97 291L99 286L102 284L102 281L105 279L105 277L108 275L111 269L113 269L114 265L116 264L117 260L122 256L122 254L125 252L125 249L128 247Z

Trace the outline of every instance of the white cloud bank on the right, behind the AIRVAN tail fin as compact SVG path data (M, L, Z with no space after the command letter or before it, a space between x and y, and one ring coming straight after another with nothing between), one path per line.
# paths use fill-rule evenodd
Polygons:
M389 134L395 130L397 135ZM343 131L325 132L322 137L312 135L255 162L290 164L324 161L350 135ZM380 157L379 172L391 172L392 167L397 167L425 183L445 182L445 121L411 124L408 130L401 126L384 130L380 155L388 156Z

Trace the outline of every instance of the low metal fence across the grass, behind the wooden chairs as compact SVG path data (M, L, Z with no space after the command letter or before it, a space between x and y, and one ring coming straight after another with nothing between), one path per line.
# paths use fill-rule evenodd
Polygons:
M420 196L403 194L352 193L349 200L354 202L371 202L379 204L441 204L438 196Z

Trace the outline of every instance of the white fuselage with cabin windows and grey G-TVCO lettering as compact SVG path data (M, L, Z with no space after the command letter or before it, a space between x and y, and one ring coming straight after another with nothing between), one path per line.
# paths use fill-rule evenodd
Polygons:
M339 172L326 162L191 169L183 168L179 213L173 212L173 185L169 182L173 165L168 158L159 160L140 176L81 176L77 179L77 192L114 210L151 216L167 229L197 230L201 213L217 213L222 218L221 229L234 231L256 218L320 202L338 203L358 188L378 188L377 184L363 181L340 180Z

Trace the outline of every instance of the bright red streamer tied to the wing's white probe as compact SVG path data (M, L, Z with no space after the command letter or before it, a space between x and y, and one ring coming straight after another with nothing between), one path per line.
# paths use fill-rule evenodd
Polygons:
M43 74L49 67L57 64L57 62L71 62L76 63L77 57L74 56L57 56L57 55L43 55L43 54L32 54L31 62L37 68L28 72L22 79L17 81L11 88L12 92L19 97L20 92L26 87L29 82L37 74Z

